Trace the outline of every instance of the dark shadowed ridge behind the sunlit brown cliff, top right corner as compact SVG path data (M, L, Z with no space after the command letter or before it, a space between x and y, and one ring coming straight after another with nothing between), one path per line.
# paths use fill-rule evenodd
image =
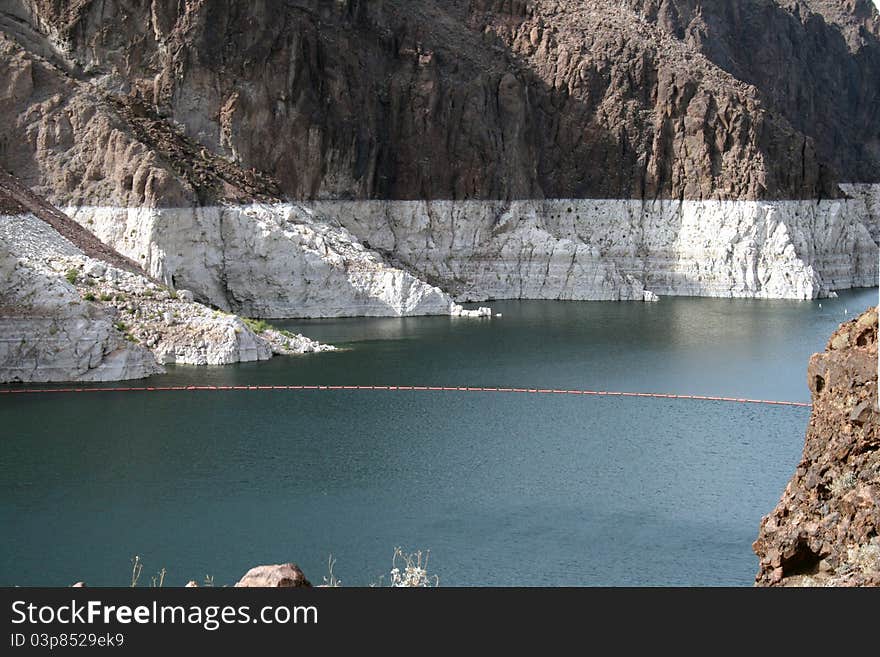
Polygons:
M820 167L830 166L845 180L877 180L880 17L871 0L629 4L754 85L770 112L808 138Z

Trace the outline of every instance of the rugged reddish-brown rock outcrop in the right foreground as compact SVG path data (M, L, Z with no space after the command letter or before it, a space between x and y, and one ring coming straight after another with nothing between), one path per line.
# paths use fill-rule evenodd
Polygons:
M808 368L803 458L761 521L758 585L880 585L877 309L847 322Z

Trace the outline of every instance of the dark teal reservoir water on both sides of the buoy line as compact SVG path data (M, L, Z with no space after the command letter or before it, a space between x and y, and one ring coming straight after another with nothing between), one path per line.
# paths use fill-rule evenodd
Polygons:
M877 290L818 302L496 302L500 319L291 322L346 351L155 385L546 386L809 401ZM121 384L125 385L125 384ZM0 584L181 585L298 562L344 584L430 548L447 585L749 585L807 409L435 392L0 397ZM386 576L387 580L387 576Z

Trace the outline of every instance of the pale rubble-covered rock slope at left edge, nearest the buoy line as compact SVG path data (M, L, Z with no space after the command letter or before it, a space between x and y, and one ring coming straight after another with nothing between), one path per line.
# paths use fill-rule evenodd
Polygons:
M332 349L212 310L191 292L85 255L33 214L0 216L0 382L111 381L167 363Z

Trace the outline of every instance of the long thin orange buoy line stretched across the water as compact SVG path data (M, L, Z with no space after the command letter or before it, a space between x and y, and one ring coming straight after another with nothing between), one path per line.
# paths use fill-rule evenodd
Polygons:
M86 392L220 392L256 390L382 390L382 391L425 391L425 392L498 392L535 395L595 395L600 397L648 397L652 399L685 399L689 401L718 401L739 404L769 404L772 406L797 406L812 408L812 404L793 401L772 401L768 399L746 399L744 397L713 397L709 395L676 395L659 392L615 392L611 390L564 390L556 388L485 388L475 386L137 386L119 388L3 388L0 395L33 395Z

